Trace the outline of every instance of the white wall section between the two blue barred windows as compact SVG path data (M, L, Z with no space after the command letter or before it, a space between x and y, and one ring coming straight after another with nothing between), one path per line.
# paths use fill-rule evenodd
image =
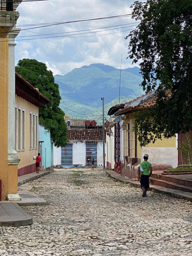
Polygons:
M76 142L73 144L73 164L86 163L86 145L84 142Z

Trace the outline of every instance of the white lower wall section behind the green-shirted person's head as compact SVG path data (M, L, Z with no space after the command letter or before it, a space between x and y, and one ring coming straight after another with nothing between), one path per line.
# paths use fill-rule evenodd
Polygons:
M148 147L141 150L141 161L143 155L149 155L151 164L170 164L172 167L178 166L178 151L173 147Z

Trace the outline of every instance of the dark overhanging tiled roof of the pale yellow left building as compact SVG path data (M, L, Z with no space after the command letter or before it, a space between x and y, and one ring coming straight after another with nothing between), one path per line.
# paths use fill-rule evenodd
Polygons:
M45 108L51 103L41 92L31 85L25 78L15 72L15 94L39 108Z

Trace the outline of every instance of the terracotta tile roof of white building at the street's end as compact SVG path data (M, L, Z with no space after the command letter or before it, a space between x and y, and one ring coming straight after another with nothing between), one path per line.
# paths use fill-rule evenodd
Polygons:
M67 139L102 141L102 129L69 129L67 130Z

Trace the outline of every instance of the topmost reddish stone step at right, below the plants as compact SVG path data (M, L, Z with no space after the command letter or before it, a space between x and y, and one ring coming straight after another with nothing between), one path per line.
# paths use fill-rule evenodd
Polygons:
M156 173L153 173L151 175L151 178L155 178L155 179L158 179L158 180L169 181L169 182L181 185L181 186L192 187L192 179L191 178L189 179L188 177L189 176L187 176L187 175L182 175L182 176L162 175L162 174L156 174Z

